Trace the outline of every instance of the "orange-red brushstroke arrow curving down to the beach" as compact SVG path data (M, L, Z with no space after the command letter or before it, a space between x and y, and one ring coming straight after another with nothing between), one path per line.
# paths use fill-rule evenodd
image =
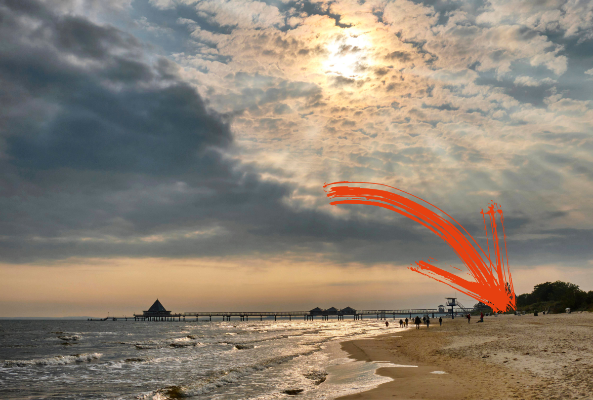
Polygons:
M432 208L446 215L447 218L437 214L432 209L413 201L410 198L380 189L358 188L350 186L335 186L343 183L365 183L368 185L381 185L387 188L395 189L398 192L405 193L423 202ZM454 273L429 264L423 260L416 262L417 267L409 267L410 270L428 276L429 278L445 283L457 291L481 301L497 311L508 311L515 309L515 291L511 278L511 269L509 269L508 253L506 251L506 234L504 227L504 217L499 204L492 202L488 206L488 211L482 211L484 230L486 230L486 243L488 254L477 244L476 240L467 232L466 228L454 220L451 215L442 211L442 209L425 201L411 193L404 192L393 186L383 185L382 183L372 182L334 182L326 183L324 188L331 186L327 192L330 199L339 199L331 201L331 205L338 204L364 204L382 207L404 215L410 220L418 222L423 227L428 228L436 236L440 237L455 251L461 262L467 267L468 275L474 281L460 278ZM490 224L490 246L488 227L486 218ZM500 224L500 226L499 226ZM457 226L456 226L457 225ZM461 229L460 229L461 228ZM500 251L500 233L504 243L504 254ZM491 249L492 247L492 249ZM492 250L492 253L490 253ZM429 260L436 261L432 257ZM485 261L484 261L485 260ZM410 264L412 265L412 264ZM455 267L454 267L455 268ZM455 268L458 269L458 268Z

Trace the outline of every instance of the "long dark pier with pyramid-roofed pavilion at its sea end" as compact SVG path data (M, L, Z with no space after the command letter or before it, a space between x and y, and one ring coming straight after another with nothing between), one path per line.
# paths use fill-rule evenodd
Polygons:
M279 317L286 318L288 317L289 321L292 321L294 318L295 320L304 320L304 321L313 321L317 317L317 319L321 319L322 321L329 321L330 317L336 318L336 320L343 321L346 318L352 318L353 321L356 320L364 320L365 317L369 319L377 319L377 320L387 320L388 318L396 319L396 317L409 317L412 318L412 315L432 315L432 318L435 318L435 315L451 315L458 313L466 314L470 311L470 309L464 308L459 303L455 304L457 309L448 304L451 307L451 311L445 309L444 306L439 306L438 308L417 308L417 309L367 309L367 310L356 310L351 307L346 307L342 309L338 309L335 307L331 307L328 309L322 309L316 307L310 311L219 311L219 312L182 312L180 314L171 314L171 311L167 311L164 307L162 307L161 303L155 301L154 304L146 311L143 311L142 314L133 314L131 317L123 316L123 317L107 317L100 320L93 320L90 319L89 321L106 321L106 320L134 320L134 321L199 321L200 318L208 318L208 321L212 321L212 317L220 317L223 321L231 321L231 318L237 318L240 321L249 321L249 318L257 320L259 317L260 321L263 321L263 318L274 317L274 321L277 321ZM187 320L186 320L187 318ZM193 318L196 318L193 320Z

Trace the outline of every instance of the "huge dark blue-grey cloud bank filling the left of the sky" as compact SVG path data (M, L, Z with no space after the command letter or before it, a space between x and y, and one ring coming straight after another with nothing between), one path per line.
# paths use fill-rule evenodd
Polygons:
M31 0L1 2L0 13L3 260L420 240L396 224L286 205L295 188L225 158L228 118L133 36ZM266 104L319 93L271 86L247 94Z

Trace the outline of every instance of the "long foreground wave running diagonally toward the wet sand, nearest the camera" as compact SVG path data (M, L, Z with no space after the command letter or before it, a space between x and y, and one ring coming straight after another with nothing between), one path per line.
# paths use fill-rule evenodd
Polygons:
M316 351L320 351L321 347L317 347L316 349L312 349L309 351L304 351L302 353L296 354L289 354L286 356L279 356L273 357L271 359L262 360L259 363L237 367L229 370L219 371L213 373L206 379L200 380L199 382L192 383L187 386L168 386L167 388L157 389L154 392L149 393L149 398L151 399L179 399L179 398L187 398L193 396L199 396L203 393L208 393L216 388L220 388L221 386L229 385L230 383L237 382L238 379L243 378L244 376L251 375L254 372L258 372L285 362L288 362L292 359L301 356L310 356L311 354L315 353ZM146 397L138 397L138 398L146 398Z

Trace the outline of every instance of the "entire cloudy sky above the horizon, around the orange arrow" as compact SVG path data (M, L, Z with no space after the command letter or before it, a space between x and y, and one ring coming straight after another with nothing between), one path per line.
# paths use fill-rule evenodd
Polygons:
M0 317L434 308L413 193L593 289L593 0L0 0ZM460 295L464 305L473 299Z

